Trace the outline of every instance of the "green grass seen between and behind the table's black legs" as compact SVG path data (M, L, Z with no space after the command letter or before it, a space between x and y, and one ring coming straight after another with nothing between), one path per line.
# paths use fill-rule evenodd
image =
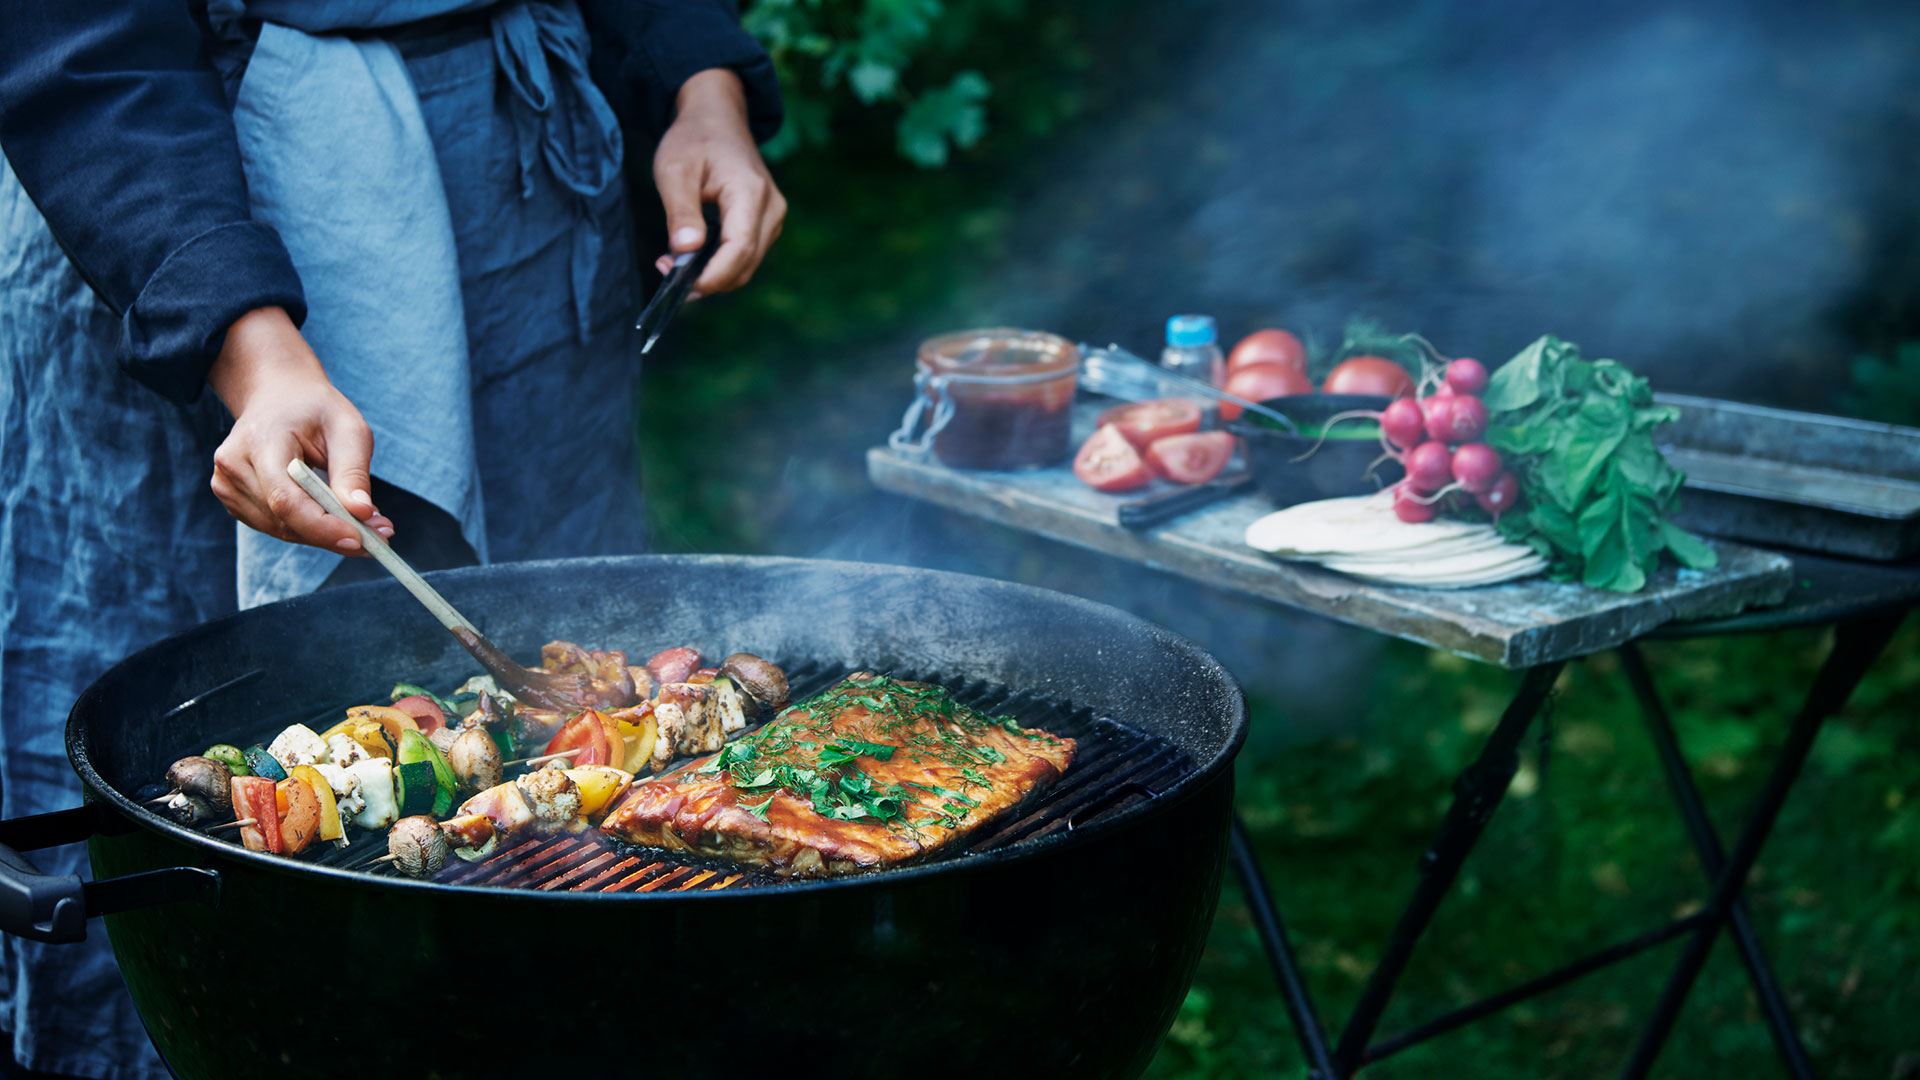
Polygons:
M1682 748L1724 836L1772 763L1822 632L1647 646ZM1415 857L1513 676L1404 646L1354 736L1238 767L1238 807L1288 919L1323 1019L1336 1022L1413 884ZM1284 701L1256 701L1256 724ZM1747 890L1824 1076L1901 1074L1920 1059L1920 625L1834 719ZM1258 742L1254 746L1260 746ZM1688 911L1703 894L1659 763L1613 657L1563 678L1534 749L1407 969L1388 1034ZM1425 1043L1369 1076L1605 1076L1678 945ZM1463 1072L1461 1063L1473 1063ZM1288 1076L1302 1061L1265 957L1229 890L1192 992L1150 1076ZM1738 955L1715 949L1663 1076L1776 1076Z

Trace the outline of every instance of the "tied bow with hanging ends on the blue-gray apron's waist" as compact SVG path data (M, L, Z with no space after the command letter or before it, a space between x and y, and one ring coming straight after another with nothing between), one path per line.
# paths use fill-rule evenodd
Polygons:
M513 90L520 198L534 196L536 161L574 192L574 248L568 261L574 323L591 332L589 300L605 238L591 200L620 177L620 121L588 75L588 37L572 4L516 0L493 12L493 52Z

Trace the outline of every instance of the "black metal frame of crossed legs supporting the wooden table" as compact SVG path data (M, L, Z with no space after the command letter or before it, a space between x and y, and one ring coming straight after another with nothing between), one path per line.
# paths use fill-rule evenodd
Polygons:
M1820 726L1847 703L1860 678L1893 638L1893 632L1905 619L1907 609L1920 600L1920 573L1912 569L1903 571L1893 567L1834 563L1830 559L1803 559L1801 565L1812 577L1812 582L1826 578L1828 584L1841 582L1843 588L1837 592L1834 588L1812 588L1805 600L1789 600L1788 605L1772 611L1693 625L1676 625L1653 634L1661 638L1688 638L1822 625L1832 625L1836 628L1834 646L1814 676L1799 713L1793 717L1786 742L1780 748L1753 807L1747 811L1745 822L1741 824L1732 849L1722 844L1720 834L1707 819L1699 788L1680 753L1678 738L1674 736L1674 728L1667 715L1667 707L1661 701L1659 690L1653 684L1653 675L1647 669L1645 657L1642 657L1640 648L1632 642L1617 650L1626 680L1632 686L1636 701L1640 703L1642 721L1645 723L1647 734L1659 751L1661 769L1667 774L1667 784L1672 790L1674 803L1686 822L1688 836L1707 880L1707 899L1697 911L1682 919L1674 919L1663 926L1615 942L1569 965L1482 997L1471 1005L1452 1009L1384 1038L1375 1038L1380 1017L1394 995L1394 988L1398 986L1402 972L1413 957L1413 949L1419 944L1421 934L1432 922L1432 917L1448 890L1453 886L1461 865L1467 861L1467 855L1473 851L1488 821L1492 821L1494 811L1500 807L1500 801L1519 769L1521 742L1534 719L1548 709L1553 682L1559 678L1567 661L1544 663L1521 673L1521 686L1513 701L1507 705L1505 713L1501 713L1500 723L1486 738L1478 757L1475 757L1473 763L1469 763L1455 778L1453 801L1440 821L1427 851L1421 855L1419 878L1413 886L1413 894L1409 896L1400 920L1388 934L1386 947L1382 949L1373 972L1367 976L1359 999L1356 1001L1354 1011L1348 1015L1336 1040L1329 1040L1329 1030L1319 1020L1319 1013L1313 1007L1313 995L1300 972L1300 965L1294 959L1294 949L1286 936L1286 926L1281 920L1279 907L1267 886L1265 872L1260 867L1244 824L1235 821L1235 871L1242 890L1246 892L1248 907L1252 909L1261 944L1267 949L1267 959L1273 965L1281 995L1286 1001L1286 1011L1300 1040L1300 1049L1306 1055L1309 1076L1315 1080L1354 1076L1363 1067L1382 1061L1411 1045L1492 1017L1509 1005L1536 997L1584 974L1592 974L1678 938L1684 940L1680 957L1674 963L1653 1011L1647 1015L1647 1020L1640 1030L1632 1055L1620 1070L1622 1076L1645 1076L1651 1070L1653 1061L1659 1057L1661 1047L1667 1043L1667 1038L1672 1034L1680 1009L1699 978L1699 972L1707 963L1707 955L1713 951L1722 928L1732 932L1734 944L1747 969L1753 994L1759 999L1761 1013L1766 1019L1768 1032L1772 1034L1788 1074L1795 1078L1814 1074L1807 1049L1793 1026L1793 1017L1788 1011L1780 980L1774 974L1772 965L1766 961L1766 953L1755 934L1753 920L1747 917L1745 903L1741 901L1741 888L1761 855L1761 847L1766 844L1766 836L1772 832L1774 822L1780 817L1780 807L1786 803L1788 792L1793 788L1793 782L1807 761L1807 753L1812 749L1814 738L1820 734Z

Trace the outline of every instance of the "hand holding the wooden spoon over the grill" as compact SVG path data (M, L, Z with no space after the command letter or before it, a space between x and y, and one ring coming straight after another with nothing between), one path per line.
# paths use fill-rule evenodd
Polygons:
M286 475L288 461L300 457L326 471L328 486L353 517L382 536L394 534L394 523L372 505L372 430L326 379L286 311L259 307L234 319L207 384L234 415L232 430L213 452L213 494L227 513L267 536L363 553L353 528Z

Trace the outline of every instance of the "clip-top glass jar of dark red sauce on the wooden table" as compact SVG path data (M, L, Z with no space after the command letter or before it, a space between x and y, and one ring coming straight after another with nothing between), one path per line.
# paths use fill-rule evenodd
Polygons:
M914 404L889 440L954 469L1039 469L1068 457L1079 348L1041 331L993 327L922 342ZM931 413L918 440L914 429Z

